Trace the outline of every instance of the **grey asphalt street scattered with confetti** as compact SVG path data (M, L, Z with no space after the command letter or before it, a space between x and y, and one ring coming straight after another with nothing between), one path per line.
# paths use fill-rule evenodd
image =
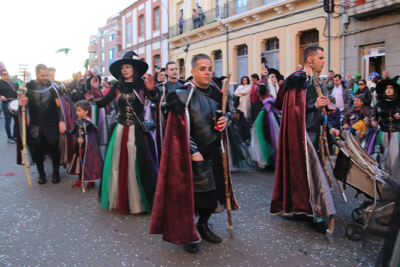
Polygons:
M74 176L62 169L62 181L38 185L36 167L17 166L16 145L6 143L4 118L0 120L0 263L3 266L359 266L372 265L362 242L344 235L351 211L363 197L343 204L337 185L335 243L308 224L268 215L274 173L243 169L233 173L241 206L232 212L234 238L226 232L226 213L212 215L210 223L222 243L202 241L200 252L149 235L150 215L128 215L100 209L98 185L83 194L71 187ZM48 180L51 162L46 159ZM15 175L6 176L13 172Z

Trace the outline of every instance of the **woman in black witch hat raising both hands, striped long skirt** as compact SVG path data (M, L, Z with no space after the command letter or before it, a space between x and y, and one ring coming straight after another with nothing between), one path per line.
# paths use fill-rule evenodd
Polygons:
M133 51L128 51L110 65L110 72L118 82L106 96L101 97L97 76L92 79L91 88L100 108L110 103L118 91L120 108L104 161L99 189L101 207L143 213L152 208L158 173L155 144L150 134L155 126L154 122L151 125L144 121L144 102L145 97L156 102L158 95L152 77L141 78L148 64L132 56Z

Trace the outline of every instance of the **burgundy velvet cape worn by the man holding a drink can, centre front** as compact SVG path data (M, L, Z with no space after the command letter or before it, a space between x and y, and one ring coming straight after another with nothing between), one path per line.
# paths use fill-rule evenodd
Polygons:
M192 158L186 118L170 111L167 121L149 233L181 245L200 239L194 222ZM224 145L227 149L226 131ZM236 210L239 205L228 173L231 209Z

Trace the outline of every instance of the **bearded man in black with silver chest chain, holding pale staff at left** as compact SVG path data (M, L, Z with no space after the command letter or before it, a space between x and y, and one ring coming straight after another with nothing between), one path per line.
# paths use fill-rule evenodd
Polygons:
M48 80L46 65L36 65L35 72L36 80L31 80L26 85L28 89L26 96L20 98L20 106L26 105L29 113L26 143L30 146L33 160L38 168L38 183L40 185L46 183L43 165L45 153L50 155L53 163L52 183L59 183L59 165L61 163L66 167L66 162L60 162L60 159L66 157L60 155L58 133L64 133L66 130L65 114L60 101L60 92ZM18 164L21 164L20 159Z

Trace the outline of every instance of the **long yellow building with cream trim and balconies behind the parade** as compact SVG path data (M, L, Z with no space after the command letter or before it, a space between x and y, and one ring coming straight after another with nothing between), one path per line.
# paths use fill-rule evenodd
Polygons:
M211 56L216 76L232 72L232 83L244 75L260 75L260 53L268 66L285 77L302 64L302 51L310 44L324 48L328 72L327 14L322 0L170 0L170 59L182 68L188 50L188 64L193 55ZM193 9L202 12L193 17ZM197 9L198 10L198 9ZM201 15L201 13L203 15ZM200 14L200 16L199 16ZM179 17L183 16L183 25ZM339 20L330 20L330 35L339 34ZM329 67L339 71L339 38L330 39ZM185 78L190 76L186 71Z

